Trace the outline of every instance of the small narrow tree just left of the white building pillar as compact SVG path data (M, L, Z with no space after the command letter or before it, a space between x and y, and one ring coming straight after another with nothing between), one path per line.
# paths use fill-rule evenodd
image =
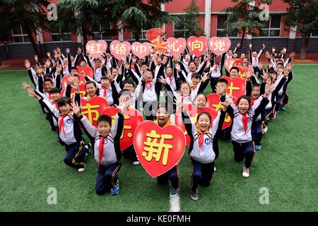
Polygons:
M198 23L199 6L196 5L196 0L192 0L191 4L184 8L186 13L184 17L184 28L187 30L189 36L201 36L204 35L204 30Z

